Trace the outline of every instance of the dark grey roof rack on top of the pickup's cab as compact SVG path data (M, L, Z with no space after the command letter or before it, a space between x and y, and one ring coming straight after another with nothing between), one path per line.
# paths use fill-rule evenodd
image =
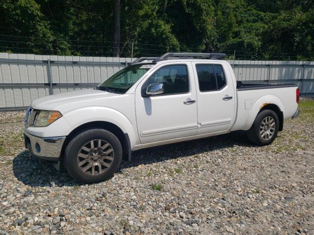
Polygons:
M139 63L144 60L153 60L152 62L158 62L169 59L223 59L225 57L225 53L168 52L159 57L140 57L134 60L131 64Z

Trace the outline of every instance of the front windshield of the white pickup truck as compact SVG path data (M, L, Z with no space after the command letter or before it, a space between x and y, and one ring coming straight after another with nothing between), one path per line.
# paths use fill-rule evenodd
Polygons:
M96 89L125 94L153 66L152 63L129 65L113 74Z

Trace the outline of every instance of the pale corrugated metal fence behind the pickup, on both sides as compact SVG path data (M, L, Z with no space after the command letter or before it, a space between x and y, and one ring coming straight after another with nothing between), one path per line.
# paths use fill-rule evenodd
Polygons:
M239 81L293 82L302 94L314 93L314 62L229 62ZM95 87L128 63L131 58L0 53L0 110L24 109L39 97Z

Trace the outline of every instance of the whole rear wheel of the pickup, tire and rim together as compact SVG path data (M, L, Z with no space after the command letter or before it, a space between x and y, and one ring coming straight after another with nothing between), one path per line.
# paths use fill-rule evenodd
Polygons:
M257 145L271 144L277 137L279 118L272 110L263 110L259 113L250 130L247 131L248 140Z

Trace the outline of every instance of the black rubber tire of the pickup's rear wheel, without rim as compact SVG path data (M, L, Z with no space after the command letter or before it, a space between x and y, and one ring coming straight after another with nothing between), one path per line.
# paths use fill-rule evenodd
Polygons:
M262 121L264 120L264 118L267 118L267 117L271 117L274 119L275 130L271 138L269 138L268 140L264 140L260 134L261 132L260 128L261 128ZM248 141L254 144L260 145L260 146L271 144L277 137L278 129L279 129L279 118L277 114L272 110L268 110L268 109L263 110L256 116L251 128L247 131Z

